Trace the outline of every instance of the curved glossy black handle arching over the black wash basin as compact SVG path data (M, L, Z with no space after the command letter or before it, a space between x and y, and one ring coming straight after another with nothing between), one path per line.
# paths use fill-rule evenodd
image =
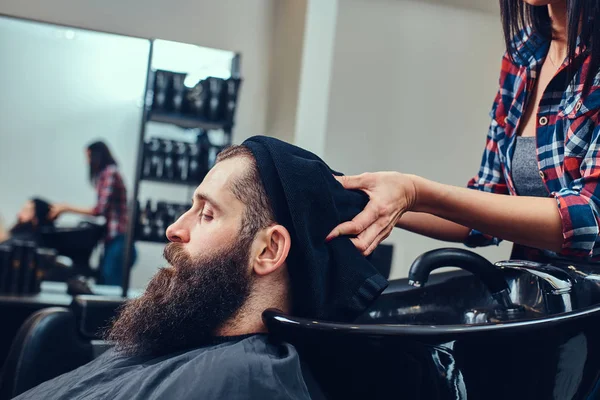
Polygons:
M506 310L518 308L510 298L510 289L502 272L479 254L468 250L443 248L422 254L410 267L408 284L421 287L431 271L442 267L458 267L471 272L483 282L500 306Z

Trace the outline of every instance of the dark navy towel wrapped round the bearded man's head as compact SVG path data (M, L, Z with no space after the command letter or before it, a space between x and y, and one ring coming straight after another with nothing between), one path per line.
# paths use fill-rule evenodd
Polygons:
M338 224L354 218L368 202L335 180L315 154L281 140L246 140L271 201L275 218L292 238L287 258L295 316L352 321L387 286L387 280L348 237L325 243Z

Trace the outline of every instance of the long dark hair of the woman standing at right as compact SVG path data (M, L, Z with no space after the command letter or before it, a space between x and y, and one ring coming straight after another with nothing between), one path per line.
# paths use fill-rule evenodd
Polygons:
M567 2L567 57L575 58L577 38L591 55L590 68L584 80L583 93L588 94L594 77L600 69L600 0L566 0ZM552 39L552 21L547 6L531 6L523 0L500 0L504 41L511 58L518 53L515 37L525 27L548 40ZM581 29L580 29L581 27Z

